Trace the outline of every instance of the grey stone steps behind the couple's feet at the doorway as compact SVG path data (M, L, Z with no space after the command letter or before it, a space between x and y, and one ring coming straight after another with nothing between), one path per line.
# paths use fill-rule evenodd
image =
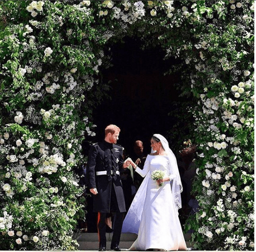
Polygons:
M107 249L110 249L111 240L113 233L106 233L107 240ZM186 245L189 247L191 243L188 241L190 238L190 234L185 234ZM98 250L99 249L99 241L97 233L76 233L74 238L78 241L79 247L78 250ZM136 240L137 235L132 233L123 233L120 237L120 248L128 249Z

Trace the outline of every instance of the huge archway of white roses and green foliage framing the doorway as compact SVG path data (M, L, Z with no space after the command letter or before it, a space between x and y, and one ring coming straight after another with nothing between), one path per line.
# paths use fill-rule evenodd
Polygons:
M196 105L187 221L197 249L254 249L254 1L1 1L0 248L75 249L108 43L140 36L183 64Z

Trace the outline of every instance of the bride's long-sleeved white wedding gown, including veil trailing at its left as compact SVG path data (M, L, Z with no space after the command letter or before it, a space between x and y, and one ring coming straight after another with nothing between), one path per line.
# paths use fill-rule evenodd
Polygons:
M123 222L122 233L138 234L129 250L188 250L170 182L159 187L150 177L154 170L162 170L172 180L175 175L170 162L168 156L147 155L143 170L136 168L136 172L146 177Z

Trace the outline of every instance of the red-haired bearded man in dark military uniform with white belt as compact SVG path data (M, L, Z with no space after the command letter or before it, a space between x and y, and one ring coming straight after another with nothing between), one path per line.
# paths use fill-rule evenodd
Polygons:
M120 179L120 171L128 164L123 161L123 148L117 144L120 128L109 125L105 129L105 140L90 147L87 169L90 192L94 194L93 211L98 212L99 251L106 251L106 216L114 213L111 250L119 247L125 199Z

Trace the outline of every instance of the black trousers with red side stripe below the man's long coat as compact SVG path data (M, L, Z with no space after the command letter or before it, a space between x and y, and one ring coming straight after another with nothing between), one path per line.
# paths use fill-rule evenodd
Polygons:
M110 204L110 211L114 214L114 218L112 219L112 229L113 229L113 236L111 241L111 247L119 245L120 236L122 231L122 222L124 213L120 213L117 204L117 197L114 191L114 186L112 184L111 188L111 204ZM99 243L100 246L106 246L106 217L108 213L100 213L98 212L98 235L99 235Z

